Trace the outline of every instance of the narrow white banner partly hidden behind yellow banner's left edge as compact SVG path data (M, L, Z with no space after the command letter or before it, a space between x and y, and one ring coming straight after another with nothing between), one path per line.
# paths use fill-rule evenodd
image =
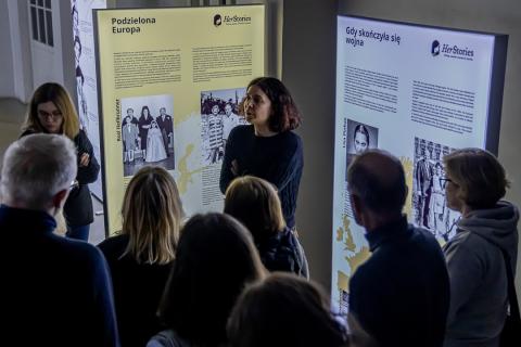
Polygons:
M94 156L100 160L100 117L98 115L98 77L96 76L93 9L106 9L106 0L72 0L74 68L78 116L81 129L87 133ZM91 192L103 200L102 175L90 184Z

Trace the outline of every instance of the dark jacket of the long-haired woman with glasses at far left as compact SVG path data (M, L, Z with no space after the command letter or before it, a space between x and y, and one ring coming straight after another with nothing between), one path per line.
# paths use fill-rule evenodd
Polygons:
M26 130L21 137L36 133L33 130ZM87 226L94 221L94 213L92 208L92 200L89 191L89 183L96 182L100 172L100 164L96 159L92 144L87 138L84 130L79 130L74 138L74 144L78 152L78 174L76 180L79 185L71 191L65 206L63 207L65 220L69 227ZM87 153L90 157L89 165L79 166L81 154Z

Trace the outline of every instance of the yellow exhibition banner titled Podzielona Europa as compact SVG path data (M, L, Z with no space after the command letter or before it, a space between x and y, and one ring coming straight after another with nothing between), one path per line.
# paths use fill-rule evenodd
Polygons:
M175 178L188 216L221 211L220 166L265 72L264 5L96 11L105 227L145 165Z

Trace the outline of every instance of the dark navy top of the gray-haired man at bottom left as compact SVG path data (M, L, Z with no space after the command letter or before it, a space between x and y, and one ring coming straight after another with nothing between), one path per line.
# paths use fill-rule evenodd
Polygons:
M43 211L0 207L0 344L119 346L103 255L55 226Z

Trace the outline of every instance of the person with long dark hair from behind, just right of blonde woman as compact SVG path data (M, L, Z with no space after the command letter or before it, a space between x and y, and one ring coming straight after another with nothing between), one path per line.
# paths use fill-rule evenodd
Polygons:
M193 216L182 228L158 308L166 330L147 346L225 346L231 308L265 271L249 231L236 219Z

